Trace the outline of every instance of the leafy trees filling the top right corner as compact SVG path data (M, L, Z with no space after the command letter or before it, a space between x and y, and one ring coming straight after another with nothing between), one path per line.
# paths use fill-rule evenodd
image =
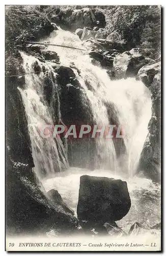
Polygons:
M106 16L108 39L140 47L149 56L159 54L160 13L158 6L110 6L102 9Z

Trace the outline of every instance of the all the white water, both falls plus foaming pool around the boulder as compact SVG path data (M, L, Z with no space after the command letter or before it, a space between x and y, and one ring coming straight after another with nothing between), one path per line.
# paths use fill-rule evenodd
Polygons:
M82 41L74 33L68 31L53 31L48 40L50 44L87 50L82 45ZM74 66L80 71L80 74L78 75L76 69L73 69L73 72L81 85L81 90L89 100L89 109L93 114L94 123L99 126L118 123L123 126L125 131L123 138L124 151L119 150L122 146L121 139L96 138L94 158L97 165L93 172L85 167L82 168L81 165L69 167L67 150L61 139L59 137L52 138L51 136L42 138L40 135L43 125L54 124L55 113L53 109L55 106L58 110L57 116L61 118L59 106L61 102L59 102L59 98L58 101L54 99L57 84L53 81L50 104L48 104L43 90L45 74L43 72L40 72L40 74L26 74L25 89L19 89L19 91L22 95L29 123L35 172L46 191L52 188L58 189L63 200L76 212L81 175L88 174L123 179L125 174L131 201L134 204L132 204L129 214L119 222L119 225L127 229L131 222L137 221L137 219L151 225L160 221L159 185L145 178L132 177L139 163L148 134L148 122L151 118L151 95L148 88L141 81L136 81L134 78L111 81L106 70L91 63L86 51L56 46L48 46L45 50L57 52L63 66L71 67L74 62ZM33 72L32 65L37 59L24 53L21 53L21 56L25 73ZM50 62L41 63L39 60L37 61L41 70L43 70L43 66L47 69L49 78L52 74L54 78L56 77ZM87 103L85 98L82 98L82 104L85 103ZM118 140L119 142L117 142ZM117 154L118 150L119 155ZM72 157L77 158L76 153L73 152ZM67 170L58 173L64 169ZM43 179L44 177L46 178ZM152 196L149 197L149 194ZM144 212L142 210L143 206ZM135 219L135 216L137 216L137 219Z

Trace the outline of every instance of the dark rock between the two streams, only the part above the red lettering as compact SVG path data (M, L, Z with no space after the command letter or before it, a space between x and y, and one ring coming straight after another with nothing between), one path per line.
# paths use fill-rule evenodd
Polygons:
M88 123L88 98L81 90L81 85L75 78L71 68L60 66L57 68L57 83L60 92L60 110L66 125ZM82 103L85 98L86 104Z

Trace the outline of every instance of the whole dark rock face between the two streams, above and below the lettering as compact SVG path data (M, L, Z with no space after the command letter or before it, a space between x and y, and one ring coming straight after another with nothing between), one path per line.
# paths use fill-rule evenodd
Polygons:
M79 72L75 66L73 67L72 63L71 66L76 72ZM71 68L60 66L56 71L58 73L56 80L58 84L61 119L68 127L73 124L76 125L76 132L79 134L81 124L93 124L89 99L84 94L84 90L75 78L75 73ZM70 165L88 167L85 164L94 161L90 156L91 153L88 153L88 150L91 151L91 147L94 147L94 141L88 141L88 138L85 138L85 140L72 138L72 141L68 139L68 161ZM88 158L90 158L89 161Z

